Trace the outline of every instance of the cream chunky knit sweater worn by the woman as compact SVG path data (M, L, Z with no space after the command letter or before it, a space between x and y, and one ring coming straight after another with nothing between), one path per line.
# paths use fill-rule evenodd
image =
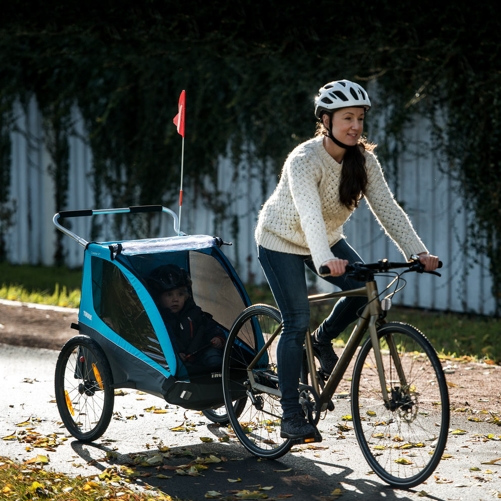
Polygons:
M288 254L311 254L318 270L333 259L331 247L344 238L351 212L339 200L341 168L319 136L295 148L287 158L277 188L259 212L258 245ZM373 153L365 152L365 198L386 234L405 258L427 252L411 221L398 206Z

